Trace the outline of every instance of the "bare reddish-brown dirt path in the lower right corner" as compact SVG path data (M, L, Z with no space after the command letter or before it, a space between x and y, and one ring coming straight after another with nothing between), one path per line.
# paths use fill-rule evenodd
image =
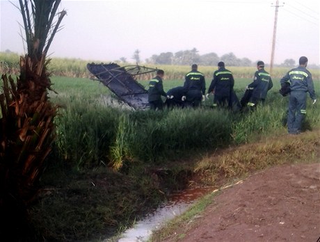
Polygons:
M320 236L320 163L270 168L227 188L177 241L310 241ZM170 238L167 241L176 241Z

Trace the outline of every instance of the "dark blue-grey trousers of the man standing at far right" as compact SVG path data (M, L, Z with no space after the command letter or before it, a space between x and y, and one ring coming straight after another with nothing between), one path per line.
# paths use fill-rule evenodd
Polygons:
M289 134L298 134L301 131L301 124L305 118L305 108L307 106L307 93L301 91L291 91L289 97L288 112L288 132Z

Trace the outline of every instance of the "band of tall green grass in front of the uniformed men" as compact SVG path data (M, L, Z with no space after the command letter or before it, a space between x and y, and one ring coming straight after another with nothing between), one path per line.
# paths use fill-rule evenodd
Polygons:
M253 113L198 108L130 111L73 100L56 119L56 156L77 168L109 165L116 170L136 160L161 163L197 151L248 143L259 136L287 134L282 120L287 100L271 94ZM312 106L304 127L319 127L319 108Z

